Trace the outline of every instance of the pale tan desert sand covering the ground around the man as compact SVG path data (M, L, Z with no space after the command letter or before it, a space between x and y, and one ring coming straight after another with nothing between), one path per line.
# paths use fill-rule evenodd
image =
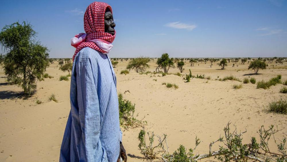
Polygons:
M148 70L155 71L156 59L149 64ZM209 62L197 63L194 67L187 63L183 73L189 73L191 69L193 75L205 74L211 77L211 80L192 78L189 83L176 75L140 75L135 71L120 75L126 65L127 61L119 60L118 66L114 68L117 91L136 105L137 118L144 118L148 123L146 131L168 135L171 153L180 144L193 148L195 136L201 140L195 152L208 153L210 142L223 135L223 128L229 121L232 122L232 128L237 127L238 132L247 130L243 135L245 143L249 142L251 136L258 137L257 130L261 125L274 124L278 128L287 126L286 115L265 111L269 102L286 97L286 94L279 93L282 84L265 90L256 89L256 84L248 83L243 84L241 89L233 89L232 85L242 83L215 80L218 76L234 75L239 79L255 77L260 81L279 74L282 80L286 80L286 62L283 65L269 63L267 69L259 71L260 75L246 75L253 73L247 70L248 63L237 63L232 67L230 62L226 70L219 70L216 63L212 68ZM54 78L38 81L37 92L29 99L15 99L22 89L7 84L4 72L0 70L0 161L59 161L59 150L70 111L70 81L59 81L61 75L68 73L62 72L57 66L55 62L46 69ZM177 73L179 70L175 68L168 72ZM166 88L163 82L177 84L179 88ZM129 92L124 93L127 90ZM56 95L57 103L48 100L52 93ZM36 104L36 100L43 103ZM123 132L128 161L143 161L137 140L140 129ZM286 134L287 129L284 129L276 137L282 138ZM276 151L276 145L271 143L270 147ZM214 150L217 148L218 144Z

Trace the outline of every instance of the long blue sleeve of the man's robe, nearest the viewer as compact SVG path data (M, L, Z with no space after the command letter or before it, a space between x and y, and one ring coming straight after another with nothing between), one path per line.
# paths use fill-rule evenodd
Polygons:
M96 68L96 69L92 69ZM100 141L100 108L97 94L97 66L79 65L77 71L77 98L87 161L106 161L106 152ZM96 75L96 76L95 76ZM80 158L81 159L81 158Z

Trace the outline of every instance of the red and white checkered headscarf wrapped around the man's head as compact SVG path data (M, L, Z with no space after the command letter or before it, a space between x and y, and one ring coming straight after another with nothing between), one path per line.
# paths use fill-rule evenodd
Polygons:
M80 33L71 39L71 45L76 48L73 60L76 54L85 47L90 47L104 54L107 54L113 47L111 43L115 39L116 31L114 35L105 32L104 16L107 8L113 13L112 7L103 2L93 2L86 9L84 15L86 34Z

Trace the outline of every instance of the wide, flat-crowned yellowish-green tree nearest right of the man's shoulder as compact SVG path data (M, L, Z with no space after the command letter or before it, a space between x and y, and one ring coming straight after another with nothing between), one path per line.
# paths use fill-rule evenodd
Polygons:
M150 62L150 58L147 57L134 58L129 61L127 69L135 69L137 73L144 72L146 71L146 68L150 67L150 65L148 65L148 62Z

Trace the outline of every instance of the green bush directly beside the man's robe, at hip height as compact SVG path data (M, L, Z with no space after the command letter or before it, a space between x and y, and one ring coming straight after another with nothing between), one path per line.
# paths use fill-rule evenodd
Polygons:
M137 120L134 116L135 104L132 104L129 100L123 99L123 95L119 93L119 116L120 125L124 130L129 128L137 128L139 126L143 127L146 125L146 121Z

